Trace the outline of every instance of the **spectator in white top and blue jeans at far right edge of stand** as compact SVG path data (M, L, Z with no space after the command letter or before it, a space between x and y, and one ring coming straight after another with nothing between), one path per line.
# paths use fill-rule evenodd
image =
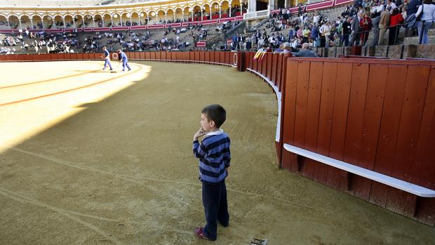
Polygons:
M435 5L431 0L423 0L423 4L418 7L415 16L421 16L421 21L417 23L418 37L420 37L419 44L429 44L427 39L427 32L435 19Z

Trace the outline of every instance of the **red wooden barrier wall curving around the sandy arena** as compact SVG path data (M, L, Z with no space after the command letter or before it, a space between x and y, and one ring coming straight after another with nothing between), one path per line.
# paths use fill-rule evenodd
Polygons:
M253 52L128 52L131 60L230 65L257 74L279 98L282 168L435 225L435 198L418 197L284 149L293 145L435 189L435 61L288 58ZM0 55L0 62L102 60L100 54Z

